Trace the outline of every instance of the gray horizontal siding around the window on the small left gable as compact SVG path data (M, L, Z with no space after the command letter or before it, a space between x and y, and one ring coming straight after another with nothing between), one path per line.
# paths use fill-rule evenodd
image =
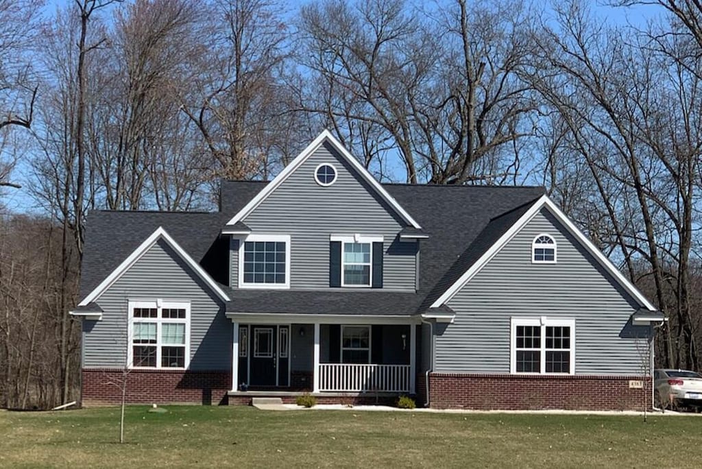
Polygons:
M96 300L105 312L101 321L84 321L83 366L124 366L128 300L157 298L190 301L190 369L231 369L233 329L223 303L163 240Z

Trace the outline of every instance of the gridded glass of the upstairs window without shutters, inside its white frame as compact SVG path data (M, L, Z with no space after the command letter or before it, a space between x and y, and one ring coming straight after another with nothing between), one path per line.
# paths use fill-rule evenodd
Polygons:
M285 283L285 242L244 243L244 283Z

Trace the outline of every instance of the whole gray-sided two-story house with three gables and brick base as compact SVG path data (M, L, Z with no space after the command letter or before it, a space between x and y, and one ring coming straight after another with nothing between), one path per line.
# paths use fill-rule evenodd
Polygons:
M324 132L215 213L96 211L84 404L641 407L663 317L542 187L380 184ZM643 352L642 352L643 351ZM650 399L649 399L650 402Z

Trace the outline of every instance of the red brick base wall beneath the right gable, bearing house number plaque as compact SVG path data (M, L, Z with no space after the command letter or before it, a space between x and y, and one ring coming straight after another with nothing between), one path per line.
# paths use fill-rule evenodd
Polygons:
M644 378L432 373L429 377L430 407L641 410L644 393L647 393L645 397L650 408L650 381L644 381L644 389L630 389L629 380L644 381Z

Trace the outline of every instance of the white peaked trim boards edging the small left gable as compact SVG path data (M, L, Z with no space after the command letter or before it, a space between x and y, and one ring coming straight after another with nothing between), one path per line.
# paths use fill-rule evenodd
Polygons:
M95 289L93 289L93 291L88 293L88 295L85 298L83 298L83 300L80 303L78 303L78 305L86 306L88 305L88 303L92 303L97 298L99 298L100 295L102 295L102 293L105 293L105 291L109 289L110 286L114 284L114 282L117 282L117 280L122 275L124 275L124 272L129 270L129 268L132 265L134 265L140 258L142 258L142 256L152 246L154 246L154 244L156 244L156 242L159 239L164 239L164 241L168 243L168 245L171 246L171 248L173 248L173 250L176 251L176 253L178 253L178 256L180 256L180 258L185 260L185 263L189 265L190 268L192 268L192 270L194 270L194 272L207 284L207 286L209 286L212 289L212 291L214 291L217 294L217 296L219 296L225 301L230 300L229 296L227 296L227 293L225 293L220 288L220 286L212 279L212 277L210 277L208 273L205 272L204 269L200 267L200 265L197 262L195 262L194 259L190 257L190 255L187 252L185 252L185 250L183 250L183 248L180 247L178 243L176 243L176 240L173 239L171 235L168 234L166 230L164 230L163 227L159 226L157 230L154 231L150 235L150 237L145 239L144 242L140 244L137 249L132 251L132 253L125 260L123 260L122 263L119 264L116 269L112 270L110 275L108 275L104 280L102 280L102 282L100 282L100 284L96 286Z

